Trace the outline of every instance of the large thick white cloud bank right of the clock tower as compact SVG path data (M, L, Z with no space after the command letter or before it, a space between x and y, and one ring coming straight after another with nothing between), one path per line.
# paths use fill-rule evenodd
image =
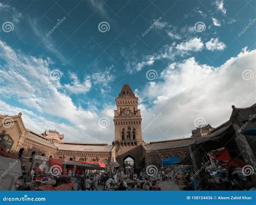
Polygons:
M245 49L215 68L201 65L194 58L166 68L161 81L150 82L140 90L144 102L154 103L142 110L142 128L161 112L143 133L145 142L190 136L197 117L217 127L230 118L231 105L239 108L254 104L254 79L245 81L242 72L250 69L255 76L255 57L256 50Z

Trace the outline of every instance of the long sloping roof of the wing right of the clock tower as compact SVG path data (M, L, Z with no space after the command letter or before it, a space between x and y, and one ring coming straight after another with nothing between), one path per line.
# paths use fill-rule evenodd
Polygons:
M144 144L144 147L146 150L175 149L179 147L186 147L190 144L193 144L194 141L195 141L194 138L165 140L165 141L151 142L148 144Z

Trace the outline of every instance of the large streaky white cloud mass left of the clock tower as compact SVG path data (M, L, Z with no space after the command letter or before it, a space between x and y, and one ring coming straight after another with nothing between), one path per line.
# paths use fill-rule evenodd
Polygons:
M17 115L24 111L25 125L41 133L52 126L51 121L61 118L65 123L55 123L56 129L64 133L67 140L80 142L112 142L112 124L101 130L98 118L104 114L94 110L77 107L72 98L60 90L69 89L74 93L87 91L89 81L80 83L75 74L71 74L72 82L62 86L60 81L53 81L50 77L52 69L56 69L49 59L36 58L22 52L12 50L0 41L0 96L2 104L8 101L22 103L21 107L5 104L1 111ZM2 76L4 78L2 79ZM64 77L64 76L63 76ZM65 76L66 77L66 76ZM68 85L68 86L67 86ZM3 100L4 102L3 102ZM105 105L103 104L103 109ZM30 115L28 114L30 113ZM47 115L50 119L41 116ZM110 119L111 120L111 119ZM35 121L35 122L33 122ZM83 133L83 135L81 135Z

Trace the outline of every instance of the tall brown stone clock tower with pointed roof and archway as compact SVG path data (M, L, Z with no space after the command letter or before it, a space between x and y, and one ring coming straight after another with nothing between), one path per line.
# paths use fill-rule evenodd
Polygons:
M114 144L117 159L122 165L126 157L136 164L142 152L142 116L136 97L129 84L124 84L116 98L117 110L114 110Z

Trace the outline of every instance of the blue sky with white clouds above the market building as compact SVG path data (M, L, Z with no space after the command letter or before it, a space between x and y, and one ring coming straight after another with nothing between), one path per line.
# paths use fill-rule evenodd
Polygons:
M0 114L111 143L129 83L144 142L191 136L256 101L255 1L0 1Z

